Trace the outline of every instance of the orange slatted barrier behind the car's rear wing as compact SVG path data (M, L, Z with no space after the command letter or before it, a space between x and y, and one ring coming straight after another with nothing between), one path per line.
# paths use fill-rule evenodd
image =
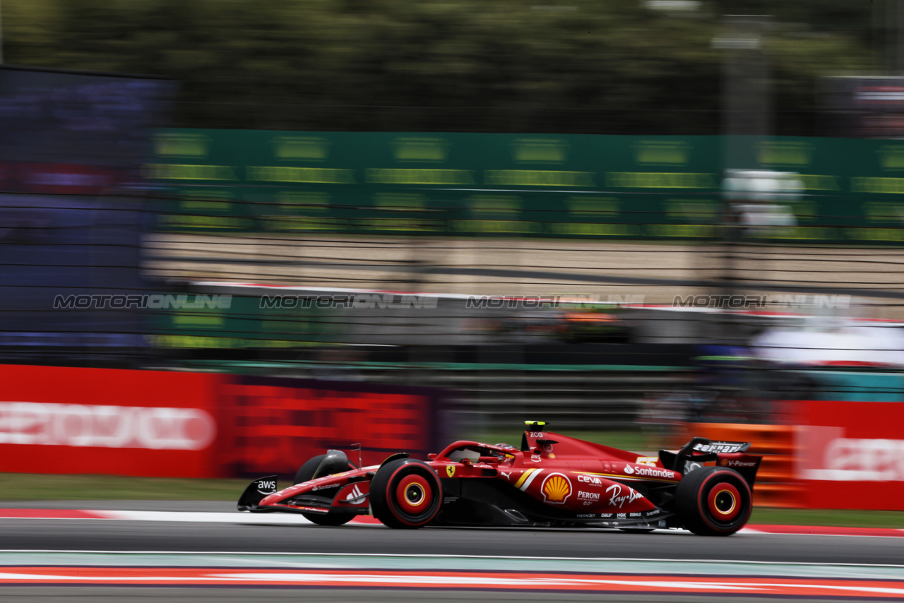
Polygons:
M805 507L804 486L796 479L794 425L747 425L741 423L687 423L676 429L673 448L693 437L750 442L749 453L762 455L763 462L753 486L756 506Z

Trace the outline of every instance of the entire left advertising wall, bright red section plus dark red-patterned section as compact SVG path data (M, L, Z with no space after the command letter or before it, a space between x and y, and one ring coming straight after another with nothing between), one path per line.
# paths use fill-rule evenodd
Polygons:
M326 448L434 451L437 390L196 372L0 365L10 473L293 475Z

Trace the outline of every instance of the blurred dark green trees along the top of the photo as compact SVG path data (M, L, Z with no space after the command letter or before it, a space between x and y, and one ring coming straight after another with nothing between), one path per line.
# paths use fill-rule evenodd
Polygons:
M173 78L181 126L718 131L711 39L737 3L543 1L3 0L5 59ZM871 67L860 4L769 7L784 133L816 77Z

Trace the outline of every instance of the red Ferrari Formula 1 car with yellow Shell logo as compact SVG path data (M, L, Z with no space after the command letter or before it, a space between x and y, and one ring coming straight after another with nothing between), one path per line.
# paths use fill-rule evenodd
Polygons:
M372 514L393 528L686 528L721 536L750 516L762 457L745 454L747 443L693 438L680 450L641 457L544 431L541 421L526 425L520 450L461 440L427 461L400 453L363 467L330 450L308 460L283 490L277 476L254 480L239 510L301 513L321 525Z

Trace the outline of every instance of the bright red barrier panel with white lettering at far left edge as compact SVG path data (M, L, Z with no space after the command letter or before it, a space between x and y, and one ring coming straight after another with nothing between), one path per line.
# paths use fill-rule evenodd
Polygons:
M219 375L0 365L13 473L217 475Z

